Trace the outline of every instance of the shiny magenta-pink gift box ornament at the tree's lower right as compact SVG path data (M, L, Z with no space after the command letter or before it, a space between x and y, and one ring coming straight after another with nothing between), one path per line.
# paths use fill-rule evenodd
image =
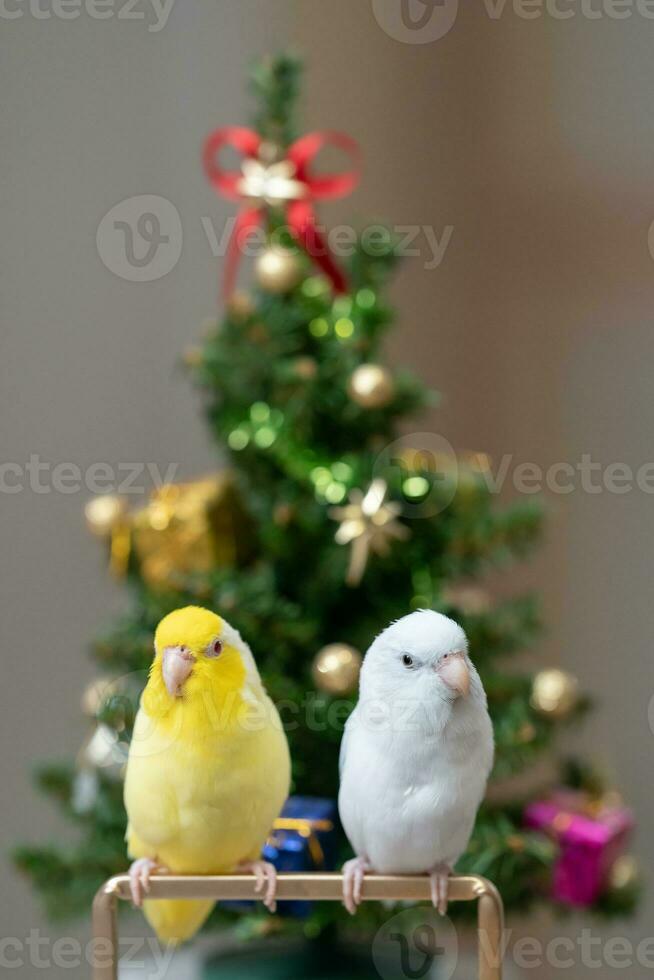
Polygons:
M552 897L575 906L592 905L600 896L634 825L625 807L574 791L530 803L525 823L558 843Z

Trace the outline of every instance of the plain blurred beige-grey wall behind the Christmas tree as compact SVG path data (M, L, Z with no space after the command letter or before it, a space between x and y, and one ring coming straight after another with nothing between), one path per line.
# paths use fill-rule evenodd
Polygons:
M122 6L106 20L83 7L43 19L15 0L7 9L20 16L0 15L2 460L174 463L180 478L215 465L177 367L214 309L201 218L219 228L233 213L206 186L199 148L213 126L246 118L251 59L289 40L311 60L308 126L343 128L365 154L361 188L325 219L383 217L439 238L454 228L440 266L425 269L424 252L407 260L393 294L390 356L447 396L434 430L516 463L654 459L654 21L615 19L600 0L593 20L574 3L561 4L576 11L569 20L461 4L446 36L413 44L389 36L368 0L174 0L158 31L145 0L134 8L145 20L120 19ZM149 283L117 277L96 249L103 215L137 194L172 201L183 227L179 262ZM29 769L77 750L79 696L94 676L84 648L125 601L83 527L84 501L0 495L4 845L71 833ZM633 802L647 871L652 498L577 490L549 504L546 546L517 579L544 597L536 654L597 698L576 741ZM636 921L592 927L652 934L651 896ZM0 909L2 936L53 934L8 867ZM563 928L576 936L584 924Z

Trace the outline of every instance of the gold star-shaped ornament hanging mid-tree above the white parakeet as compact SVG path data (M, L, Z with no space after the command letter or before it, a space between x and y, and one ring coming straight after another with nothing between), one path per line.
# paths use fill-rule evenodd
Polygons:
M374 552L387 555L392 541L405 541L411 532L398 521L400 504L387 501L385 480L373 480L365 492L352 490L348 503L332 507L329 516L339 522L336 531L338 544L351 545L350 564L345 581L358 585L363 578L368 558Z

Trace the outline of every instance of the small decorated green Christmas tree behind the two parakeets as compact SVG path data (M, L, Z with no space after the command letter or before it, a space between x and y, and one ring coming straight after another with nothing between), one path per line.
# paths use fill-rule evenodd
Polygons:
M254 130L221 130L205 153L215 188L241 210L226 262L225 314L185 360L229 468L164 487L135 513L115 497L87 508L93 530L110 541L131 612L93 645L101 676L84 696L90 731L79 758L45 765L37 776L76 824L78 843L16 853L56 915L87 912L99 884L127 867L121 775L131 725L154 628L188 603L224 613L254 651L287 724L293 793L332 799L361 652L413 609L459 621L488 693L497 754L458 870L491 878L508 910L563 898L551 891L560 850L537 821L528 821L531 829L525 822L552 779L526 789L520 777L553 755L558 729L587 705L565 672L534 677L510 664L537 635L534 597L495 602L479 584L534 545L541 508L532 498L496 507L482 454L455 455L425 433L399 438L405 420L437 398L408 371L383 363L394 320L384 289L396 245L376 228L358 234L341 259L318 234L313 200L349 191L355 177L314 176L313 157L325 143L350 155L356 149L334 133L298 140L300 77L289 56L258 65ZM238 174L222 170L226 143L244 156ZM241 239L255 228L265 232L255 285L234 293ZM557 783L574 790L587 819L592 806L601 819L610 805L583 764L566 762ZM340 861L348 856L343 840L339 848ZM630 907L635 875L626 857L620 861L585 904ZM343 914L327 903L283 921L316 935ZM360 921L384 914L364 906ZM221 908L211 922L244 915L254 923L266 913Z

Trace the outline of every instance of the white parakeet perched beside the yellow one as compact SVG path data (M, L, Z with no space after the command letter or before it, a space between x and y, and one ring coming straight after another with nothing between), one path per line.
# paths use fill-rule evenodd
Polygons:
M445 913L492 764L486 694L461 627L431 610L392 623L366 654L341 745L338 804L356 854L343 868L349 912L373 871L430 875Z

